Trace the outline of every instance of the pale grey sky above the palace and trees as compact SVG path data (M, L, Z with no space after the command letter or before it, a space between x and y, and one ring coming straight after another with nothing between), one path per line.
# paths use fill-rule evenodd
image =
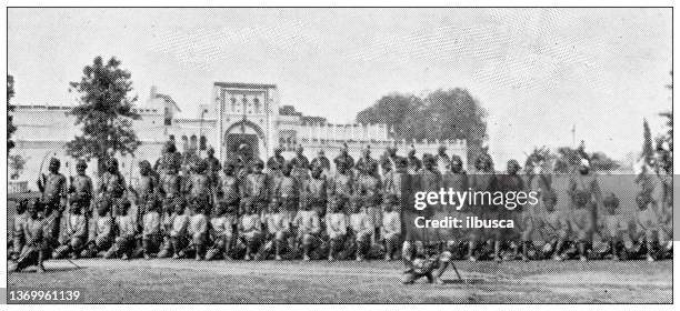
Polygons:
M670 9L9 9L8 23L21 104L72 104L94 56L189 117L214 81L274 83L281 104L338 123L393 91L462 87L497 161L571 144L572 124L623 158L671 109Z

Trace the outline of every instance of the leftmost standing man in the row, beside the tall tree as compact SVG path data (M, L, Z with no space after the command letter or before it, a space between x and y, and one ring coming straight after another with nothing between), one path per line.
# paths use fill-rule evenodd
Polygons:
M48 223L48 235L44 237L48 244L57 242L61 213L67 207L67 179L59 173L61 162L57 158L50 159L49 173L42 174L38 180L38 189L42 192L41 204L43 215Z

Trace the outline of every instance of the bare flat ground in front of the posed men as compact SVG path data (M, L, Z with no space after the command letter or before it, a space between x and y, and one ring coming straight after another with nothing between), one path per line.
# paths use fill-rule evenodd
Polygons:
M467 262L446 284L400 282L399 262L48 261L8 288L84 288L88 303L671 303L672 262Z

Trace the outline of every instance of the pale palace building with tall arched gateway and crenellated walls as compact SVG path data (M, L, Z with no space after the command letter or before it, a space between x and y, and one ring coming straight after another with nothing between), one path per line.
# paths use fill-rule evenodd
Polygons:
M62 160L62 172L74 173L64 153L64 144L80 133L73 126L74 118L69 116L69 106L30 106L18 104L12 112L18 127L13 136L17 143L12 154L20 154L27 160L26 169L19 180L30 180L32 189L34 178L44 158L58 157ZM204 154L208 148L216 150L216 157L226 160L241 143L247 143L256 156L266 160L273 150L282 146L283 157L290 159L294 148L302 146L304 154L311 160L323 150L332 160L343 143L350 154L360 157L363 146L370 144L372 157L378 159L389 146L396 146L399 154L406 156L411 144L418 156L436 153L440 146L447 147L447 153L458 154L467 160L467 143L456 141L417 141L394 140L386 124L334 124L321 117L309 117L296 111L292 106L282 106L276 84L214 82L211 102L201 104L199 116L181 116L180 107L169 94L151 88L149 98L137 104L136 111L141 116L133 121L133 128L141 141L134 156L120 159L121 171L134 175L141 160L152 163L161 153L162 144L174 140L180 151L196 150ZM94 165L89 165L91 170ZM128 171L129 172L128 172ZM12 169L8 170L11 174Z

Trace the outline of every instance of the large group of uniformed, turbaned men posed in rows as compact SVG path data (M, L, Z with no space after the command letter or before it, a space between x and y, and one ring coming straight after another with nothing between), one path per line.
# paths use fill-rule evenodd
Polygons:
M613 193L602 194L597 177L583 160L569 187L570 209L557 210L557 193L548 173L520 174L516 160L497 173L491 157L482 152L468 174L458 156L422 158L412 149L407 157L388 148L379 159L370 147L354 161L344 146L331 161L323 151L309 161L298 147L287 160L278 148L267 163L247 144L223 163L208 157L189 157L169 141L158 161L139 162L139 179L126 183L114 158L106 160L98 182L77 162L68 180L51 159L49 173L38 185L39 200L17 204L10 254L14 271L38 265L47 258L189 258L196 260L354 259L401 258L404 282L419 277L440 281L452 259L542 259L647 257L670 254L672 194L643 191L638 212L617 212ZM527 165L540 167L532 159ZM669 188L670 172L653 174ZM502 231L443 229L423 239L409 215L409 188L437 190L537 189L540 204L516 209L516 234ZM98 187L96 187L96 183ZM670 188L669 188L670 189ZM654 192L656 193L656 192ZM600 212L598 212L600 210ZM601 211L606 211L602 213ZM457 211L439 210L454 214ZM471 207L461 214L501 217L502 209ZM597 237L597 238L596 238Z

